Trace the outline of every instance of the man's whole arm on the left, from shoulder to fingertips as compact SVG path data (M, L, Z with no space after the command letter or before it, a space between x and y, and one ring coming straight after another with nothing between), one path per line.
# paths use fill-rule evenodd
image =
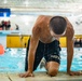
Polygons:
M20 73L19 77L26 78L26 77L32 77L32 71L33 71L33 63L35 63L35 55L36 55L36 50L39 43L39 38L40 38L40 28L38 27L38 24L35 25L32 28L32 35L30 38L30 45L29 45L29 51L28 51L28 70L25 73Z

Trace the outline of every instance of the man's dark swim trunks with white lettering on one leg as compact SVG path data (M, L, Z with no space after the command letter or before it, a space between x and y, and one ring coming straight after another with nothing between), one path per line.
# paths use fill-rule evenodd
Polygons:
M29 50L29 43L30 39L28 40L28 45L26 50L26 58L25 58L25 71L28 69L28 50ZM59 41L54 40L51 43L42 43L39 41L37 51L36 51L36 57L35 57L35 64L33 64L33 70L37 69L38 65L40 64L42 57L45 58L46 62L57 62L60 64L60 46Z

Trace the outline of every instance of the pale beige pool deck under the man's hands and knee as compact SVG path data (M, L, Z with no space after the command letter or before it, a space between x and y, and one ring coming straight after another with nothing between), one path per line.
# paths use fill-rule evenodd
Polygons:
M82 76L68 76L66 72L58 72L56 77L49 77L45 72L35 72L35 77L19 78L18 73L0 73L0 81L82 81Z

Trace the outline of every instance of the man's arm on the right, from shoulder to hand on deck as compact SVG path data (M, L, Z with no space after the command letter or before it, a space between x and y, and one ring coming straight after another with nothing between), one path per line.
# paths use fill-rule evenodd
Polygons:
M74 30L73 27L70 25L67 30L67 73L70 76L79 76L80 72L70 70L73 58L73 35Z

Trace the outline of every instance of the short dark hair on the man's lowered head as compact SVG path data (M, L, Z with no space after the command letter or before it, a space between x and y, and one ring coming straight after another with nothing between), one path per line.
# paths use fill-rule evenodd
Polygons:
M66 26L67 26L67 22L62 16L54 16L50 21L51 29L57 35L62 35L65 31Z

